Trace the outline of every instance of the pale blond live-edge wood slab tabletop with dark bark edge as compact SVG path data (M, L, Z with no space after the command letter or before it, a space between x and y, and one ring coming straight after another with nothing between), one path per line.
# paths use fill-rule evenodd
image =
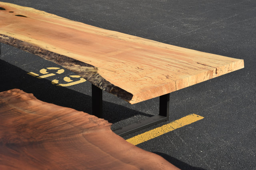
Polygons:
M75 72L135 104L244 68L223 57L0 2L0 42Z

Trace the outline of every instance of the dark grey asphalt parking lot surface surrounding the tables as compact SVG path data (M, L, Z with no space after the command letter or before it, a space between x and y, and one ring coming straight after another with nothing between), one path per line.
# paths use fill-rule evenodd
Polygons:
M96 27L163 43L244 59L245 68L172 92L170 121L204 119L137 145L184 170L256 170L255 0L2 0ZM91 113L91 86L51 84L74 73L37 79L26 74L60 67L1 43L0 91L19 88L44 102ZM75 75L75 74L74 74ZM103 94L112 129L158 113L159 98L130 105ZM150 128L124 136L128 139Z

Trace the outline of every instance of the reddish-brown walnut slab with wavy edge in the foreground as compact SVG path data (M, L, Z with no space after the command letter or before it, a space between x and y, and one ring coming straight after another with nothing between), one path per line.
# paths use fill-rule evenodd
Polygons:
M13 89L0 93L0 169L178 169L110 123Z

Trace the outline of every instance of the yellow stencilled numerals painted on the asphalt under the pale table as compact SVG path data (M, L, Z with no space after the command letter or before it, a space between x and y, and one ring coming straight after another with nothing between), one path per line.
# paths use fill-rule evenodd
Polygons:
M49 73L47 70L55 70L56 71L56 74L62 74L64 72L64 69L62 68L58 68L58 67L48 67L48 68L42 68L39 72L41 73L41 75L39 74L36 74L34 72L28 72L27 74L31 75L31 76L34 76L36 78L46 78L46 77L50 77L50 76L55 76L56 74L55 73ZM72 79L76 79L76 78L79 78L77 81L74 81ZM60 83L59 84L59 80L52 80L52 84L56 84L56 86L63 86L63 87L66 87L66 86L72 86L72 85L75 85L75 84L79 84L79 83L82 83L82 82L85 82L86 80L78 75L71 75L71 76L66 76L63 78L63 80L67 83Z

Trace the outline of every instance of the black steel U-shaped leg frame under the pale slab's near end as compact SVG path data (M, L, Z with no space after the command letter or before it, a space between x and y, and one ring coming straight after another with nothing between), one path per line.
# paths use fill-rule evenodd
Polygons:
M149 117L132 125L122 127L114 133L120 136L128 135L140 129L169 120L170 93L160 96L159 115ZM92 84L92 114L102 118L102 90Z

